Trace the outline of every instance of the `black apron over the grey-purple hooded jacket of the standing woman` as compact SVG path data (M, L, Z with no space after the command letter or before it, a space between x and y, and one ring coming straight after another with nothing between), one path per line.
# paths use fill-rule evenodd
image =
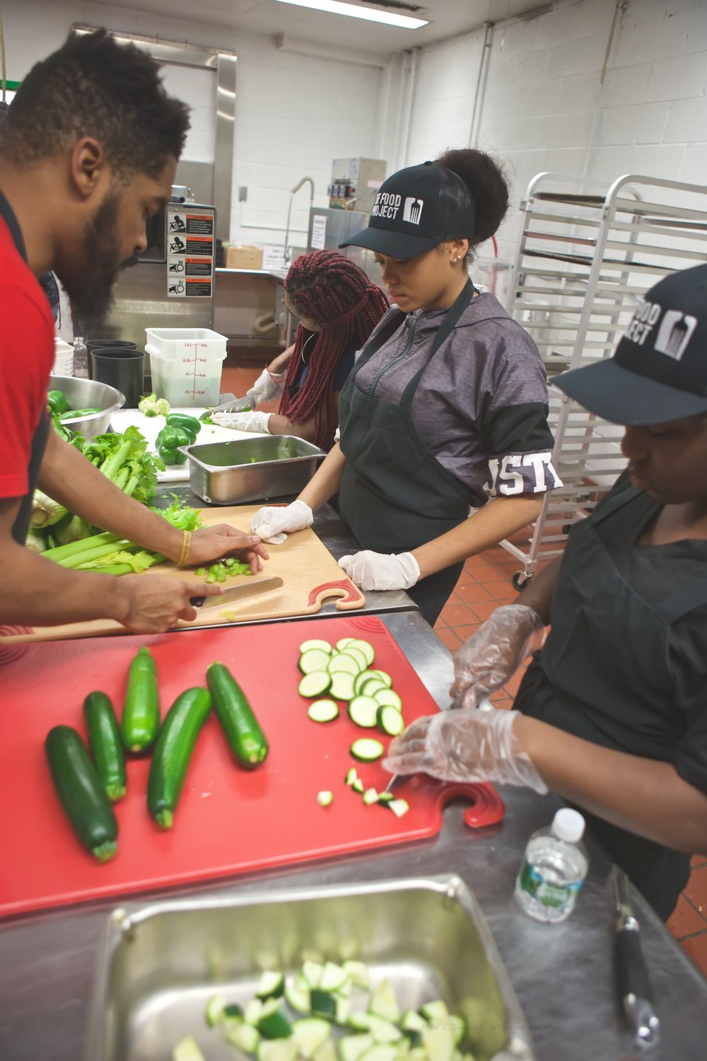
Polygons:
M423 373L472 301L467 281L440 325L429 354L405 387L400 404L363 394L358 370L400 328L397 312L366 345L339 396L340 446L347 463L339 488L341 516L363 549L408 553L469 518L471 491L430 453L412 419ZM421 579L407 592L434 626L457 584L463 561Z

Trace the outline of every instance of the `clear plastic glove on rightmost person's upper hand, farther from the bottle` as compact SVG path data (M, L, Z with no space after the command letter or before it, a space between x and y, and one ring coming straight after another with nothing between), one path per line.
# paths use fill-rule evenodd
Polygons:
M500 689L526 657L543 647L545 623L524 604L496 608L490 619L455 653L449 694L461 708L476 708Z

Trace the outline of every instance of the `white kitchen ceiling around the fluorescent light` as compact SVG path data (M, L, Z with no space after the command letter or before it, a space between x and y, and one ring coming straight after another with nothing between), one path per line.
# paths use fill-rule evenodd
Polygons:
M276 0L140 0L139 4L136 0L95 2L113 8L138 8L232 30L268 35L285 33L324 45L387 53L459 36L484 21L500 21L545 5L544 0L409 0L410 3L422 4L424 14L414 14L428 18L429 25L420 30L400 30L357 18L307 11L305 7L277 3ZM386 8L381 5L379 10Z

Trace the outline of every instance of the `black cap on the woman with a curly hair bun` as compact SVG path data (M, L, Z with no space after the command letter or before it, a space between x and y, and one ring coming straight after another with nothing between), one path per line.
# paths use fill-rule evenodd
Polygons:
M339 247L367 247L391 258L417 258L444 240L472 240L474 199L446 166L408 166L384 180L368 228Z

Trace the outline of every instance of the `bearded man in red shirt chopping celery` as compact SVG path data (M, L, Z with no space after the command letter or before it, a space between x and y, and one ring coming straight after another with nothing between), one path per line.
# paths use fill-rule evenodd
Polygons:
M105 31L70 36L22 83L0 126L0 623L109 618L137 632L194 619L190 594L219 590L170 577L68 571L24 547L39 486L88 523L180 564L235 553L261 568L260 539L229 526L176 529L127 498L47 413L52 314L37 278L56 273L77 313L98 321L119 268L146 246L169 199L189 127L158 67Z

